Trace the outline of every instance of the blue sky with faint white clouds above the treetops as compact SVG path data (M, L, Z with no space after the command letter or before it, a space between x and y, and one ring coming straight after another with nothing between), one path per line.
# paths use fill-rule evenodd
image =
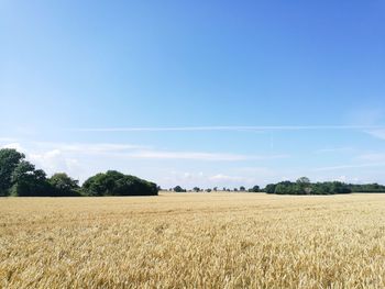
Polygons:
M163 188L385 184L385 2L0 0L0 147Z

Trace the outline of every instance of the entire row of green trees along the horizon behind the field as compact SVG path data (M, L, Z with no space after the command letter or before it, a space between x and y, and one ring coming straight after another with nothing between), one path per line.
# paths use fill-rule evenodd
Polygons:
M47 178L42 169L36 169L25 159L25 155L13 148L0 149L0 197L80 197L80 196L157 196L161 188L156 184L124 175L116 170L99 173L88 178L82 186L65 173L54 174ZM378 184L344 184L341 181L310 182L307 177L297 181L270 184L261 189L253 186L246 189L218 187L201 189L194 187L195 192L206 191L266 192L275 194L337 194L350 192L385 192L385 186ZM186 192L180 186L169 191Z

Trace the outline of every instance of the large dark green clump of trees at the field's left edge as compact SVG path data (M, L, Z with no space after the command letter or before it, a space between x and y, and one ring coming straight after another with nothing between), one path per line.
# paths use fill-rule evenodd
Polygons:
M116 170L97 174L82 186L65 173L47 178L13 148L0 149L0 197L157 196L156 184Z

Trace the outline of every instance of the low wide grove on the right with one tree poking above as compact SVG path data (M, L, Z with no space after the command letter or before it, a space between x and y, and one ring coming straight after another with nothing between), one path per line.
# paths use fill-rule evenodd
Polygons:
M299 178L296 182L286 180L278 184L270 184L264 191L276 194L336 194L352 192L349 185L341 181L312 184L306 177Z

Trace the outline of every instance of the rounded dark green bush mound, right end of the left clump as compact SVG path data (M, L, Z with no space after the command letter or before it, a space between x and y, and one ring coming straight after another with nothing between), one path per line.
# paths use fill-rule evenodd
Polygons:
M90 177L82 185L85 196L157 196L156 184L108 170Z

